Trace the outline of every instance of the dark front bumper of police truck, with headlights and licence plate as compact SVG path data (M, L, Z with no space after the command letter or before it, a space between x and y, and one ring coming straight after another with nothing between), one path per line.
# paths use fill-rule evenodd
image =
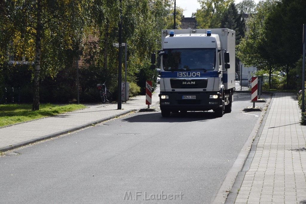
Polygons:
M161 92L159 105L170 111L207 111L222 107L222 96L217 92Z

